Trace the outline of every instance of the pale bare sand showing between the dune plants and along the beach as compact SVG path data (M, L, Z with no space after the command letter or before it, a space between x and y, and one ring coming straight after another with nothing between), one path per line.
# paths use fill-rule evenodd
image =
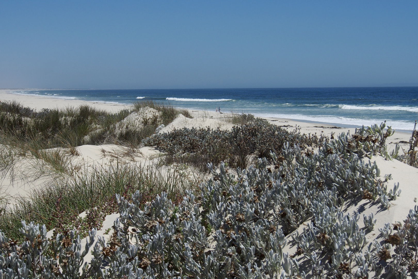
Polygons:
M27 97L20 95L11 95L9 93L0 92L0 100L17 100L23 105L30 106L32 108L55 108L63 106L77 106L80 104L88 104L97 108L105 110L120 110L125 108L123 105L115 104L104 104L104 103L91 103L83 102L79 100L61 100L43 98L43 97ZM231 115L227 113L219 114L207 111L190 111L193 118L187 118L180 114L172 123L162 128L159 133L173 131L173 129L181 128L205 128L210 127L213 129L224 129L229 130L233 127L232 123L229 123ZM125 122L130 125L135 124L135 115L130 115L130 118ZM301 133L311 134L323 134L324 136L331 136L340 133L354 134L354 128L335 127L332 125L319 124L319 123L307 123L302 121L295 121L290 119L280 118L266 118L270 123L274 125L282 126L288 130L300 129ZM123 124L123 123L122 123ZM395 132L395 134L388 139L387 142L390 149L395 147L396 143L400 141L409 141L410 134L403 132ZM403 149L409 147L408 143L400 143ZM66 148L57 149L64 152L66 158L69 160L70 169L73 173L79 171L85 171L97 167L106 168L115 164L130 164L132 166L155 166L158 164L158 160L161 157L160 151L153 147L142 147L142 148L127 148L124 146L107 144L107 145L82 145L76 147L75 154L68 154ZM66 153L67 152L67 153ZM369 160L366 158L365 160ZM392 179L385 183L387 189L392 189L394 184L399 183L400 189L402 189L400 197L396 200L391 201L390 207L387 210L382 209L380 202L362 200L361 197L357 200L350 201L342 208L343 212L358 212L362 215L369 215L373 213L377 219L375 229L367 233L367 239L373 241L379 233L377 228L382 228L385 223L395 223L396 221L402 222L411 208L416 203L418 198L418 169L412 166L408 166L397 160L385 160L381 156L373 156L370 159L371 162L376 161L378 168L380 169L381 179L385 179L385 175L391 174ZM39 162L31 158L22 158L16 162L15 177L14 179L6 177L3 179L0 185L0 199L7 200L9 204L13 204L14 200L19 198L30 198L31 192L45 187L49 183L53 183L54 179L62 179L62 177L54 176L54 172L51 170L39 169ZM160 169L160 171L166 171ZM83 213L82 213L83 214ZM81 214L81 216L82 216ZM108 215L105 218L103 227L97 232L98 235L109 238L111 231L106 234L105 232L110 229L113 225L113 221L118 218L117 213ZM308 221L306 222L308 223ZM359 224L362 225L362 217L360 218ZM303 230L303 226L299 228ZM52 231L48 233L52 235ZM84 240L85 241L85 240ZM82 243L84 245L84 243ZM287 251L294 253L296 247L288 246ZM90 253L87 255L91 256ZM301 259L302 261L302 259Z

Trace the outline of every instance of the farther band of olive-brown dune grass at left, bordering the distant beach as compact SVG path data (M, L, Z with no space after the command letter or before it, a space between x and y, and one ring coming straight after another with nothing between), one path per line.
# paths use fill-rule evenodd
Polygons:
M143 128L115 134L115 125L130 113L150 107L160 112L158 122L144 123ZM0 103L0 140L9 146L27 150L55 147L75 147L83 144L116 143L135 146L143 138L154 133L160 124L171 123L178 114L191 117L188 110L152 100L139 101L132 106L110 113L105 110L81 105L77 108L43 109L23 107L18 102Z

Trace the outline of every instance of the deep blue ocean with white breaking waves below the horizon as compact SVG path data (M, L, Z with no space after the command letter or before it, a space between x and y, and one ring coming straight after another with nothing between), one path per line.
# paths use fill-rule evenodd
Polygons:
M170 102L196 110L252 113L262 117L360 126L384 120L411 131L418 119L418 87L250 88L170 90L26 90L15 94L130 104Z

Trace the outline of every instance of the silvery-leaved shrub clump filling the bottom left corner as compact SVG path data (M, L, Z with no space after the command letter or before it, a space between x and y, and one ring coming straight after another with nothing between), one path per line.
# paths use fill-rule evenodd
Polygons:
M100 256L99 261L83 265L84 256L94 242L95 230L89 233L84 250L74 231L58 234L52 243L46 238L45 225L22 221L20 232L26 237L20 245L0 232L0 279L83 278L79 276L80 267L85 275L98 278L101 274L100 264L95 265L101 262Z

